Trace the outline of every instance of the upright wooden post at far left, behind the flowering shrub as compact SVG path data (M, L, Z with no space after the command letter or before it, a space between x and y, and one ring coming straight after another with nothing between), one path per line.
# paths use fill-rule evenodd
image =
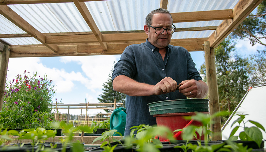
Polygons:
M2 111L3 101L4 101L4 91L6 86L7 79L7 68L8 68L8 59L10 55L10 46L2 45L0 42L0 111Z

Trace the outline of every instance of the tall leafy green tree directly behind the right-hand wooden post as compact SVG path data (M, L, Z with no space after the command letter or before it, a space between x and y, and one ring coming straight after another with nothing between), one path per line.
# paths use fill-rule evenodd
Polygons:
M248 59L241 58L234 51L235 43L230 37L214 49L221 111L233 111L249 87ZM205 64L201 66L200 73L206 76ZM226 118L222 122L224 120Z

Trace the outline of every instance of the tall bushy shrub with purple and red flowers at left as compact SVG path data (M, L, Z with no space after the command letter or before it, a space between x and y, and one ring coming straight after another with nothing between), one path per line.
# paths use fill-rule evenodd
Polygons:
M30 73L30 72L28 72ZM37 77L37 73L33 76L17 75L15 79L8 81L6 91L4 92L3 110L10 109L14 104L20 104L22 101L33 106L34 111L51 113L52 98L55 93L52 80L48 80L45 76Z

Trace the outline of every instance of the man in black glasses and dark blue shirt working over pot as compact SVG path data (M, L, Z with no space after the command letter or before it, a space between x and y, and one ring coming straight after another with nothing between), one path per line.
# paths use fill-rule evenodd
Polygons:
M189 98L205 98L208 86L202 81L190 53L169 45L175 32L171 14L159 8L146 17L145 43L125 48L112 74L115 91L126 94L126 128L156 124L148 103ZM179 90L177 84L180 84Z

